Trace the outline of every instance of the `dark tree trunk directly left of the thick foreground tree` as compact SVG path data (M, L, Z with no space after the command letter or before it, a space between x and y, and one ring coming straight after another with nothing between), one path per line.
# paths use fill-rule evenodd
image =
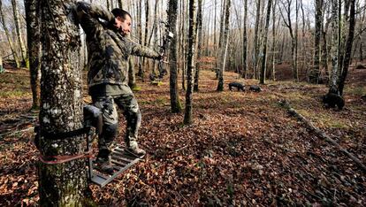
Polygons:
M41 71L41 41L40 41L40 4L37 0L26 0L26 19L27 19L27 44L29 57L30 83L33 97L32 108L40 106L40 71Z

